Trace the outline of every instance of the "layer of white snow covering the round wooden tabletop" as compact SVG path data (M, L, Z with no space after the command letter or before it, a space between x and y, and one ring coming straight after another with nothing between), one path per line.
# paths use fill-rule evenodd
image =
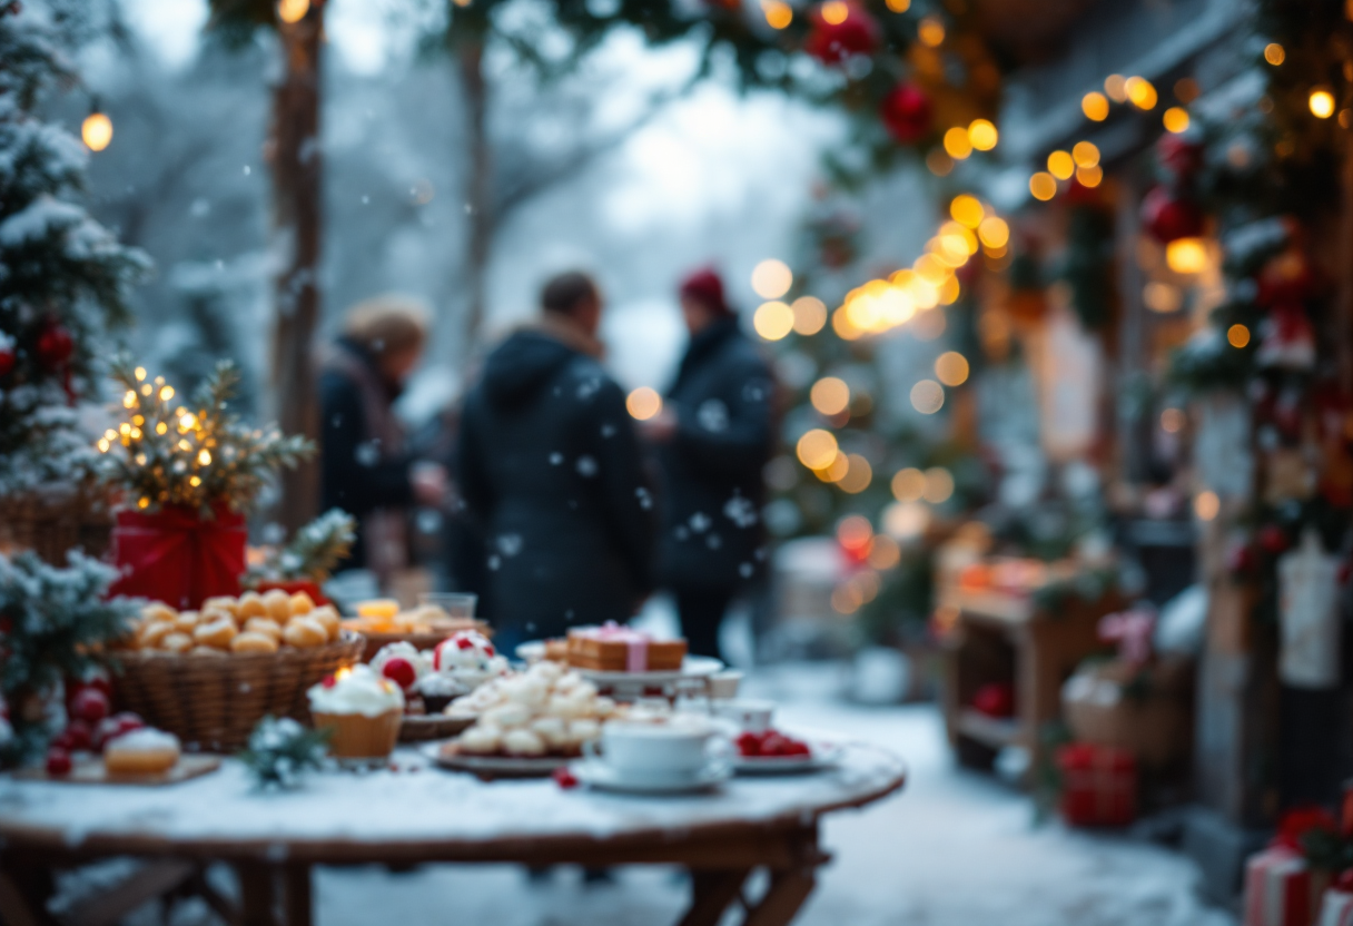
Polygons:
M729 823L766 824L869 803L897 788L901 759L848 745L836 768L804 776L733 778L716 792L630 796L552 780L483 782L400 749L398 770L325 772L295 791L256 789L245 768L175 785L76 785L0 778L0 838L175 843L483 843L607 839L655 830L689 834Z

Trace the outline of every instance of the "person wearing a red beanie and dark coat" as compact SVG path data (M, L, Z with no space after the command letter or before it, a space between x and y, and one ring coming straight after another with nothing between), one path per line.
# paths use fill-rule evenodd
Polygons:
M762 468L775 387L713 269L686 278L681 306L690 345L662 412L643 428L664 477L659 581L676 598L690 651L717 657L724 612L764 566Z

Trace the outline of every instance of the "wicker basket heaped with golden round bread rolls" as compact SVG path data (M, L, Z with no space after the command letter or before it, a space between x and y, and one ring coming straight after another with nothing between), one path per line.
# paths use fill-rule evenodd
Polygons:
M363 654L333 605L304 592L207 598L199 611L147 604L116 653L127 709L184 743L242 747L265 716L308 722L306 689Z

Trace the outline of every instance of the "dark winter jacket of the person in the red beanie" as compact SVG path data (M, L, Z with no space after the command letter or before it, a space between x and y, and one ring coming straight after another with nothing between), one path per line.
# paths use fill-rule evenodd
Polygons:
M773 441L774 378L736 318L686 351L667 393L676 435L662 448L659 563L674 590L733 589L766 559L762 470Z

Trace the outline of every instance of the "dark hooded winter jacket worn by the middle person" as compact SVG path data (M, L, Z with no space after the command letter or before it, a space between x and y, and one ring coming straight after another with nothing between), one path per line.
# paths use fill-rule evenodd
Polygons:
M656 512L625 395L564 322L513 334L465 401L460 487L505 638L629 619Z

